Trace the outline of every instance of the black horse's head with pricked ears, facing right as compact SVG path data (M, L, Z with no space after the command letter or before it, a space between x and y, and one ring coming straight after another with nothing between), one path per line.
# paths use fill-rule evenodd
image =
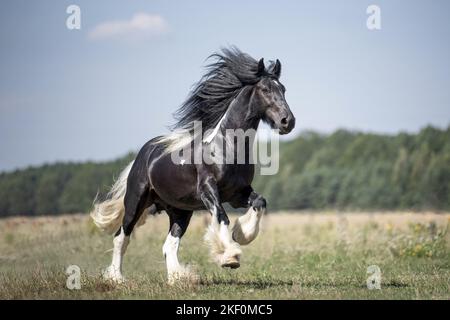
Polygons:
M295 117L286 102L286 89L280 82L281 63L277 59L269 70L265 69L264 59L259 60L258 74L260 80L254 86L253 99L257 106L257 113L272 129L278 129L280 134L287 134L295 126Z

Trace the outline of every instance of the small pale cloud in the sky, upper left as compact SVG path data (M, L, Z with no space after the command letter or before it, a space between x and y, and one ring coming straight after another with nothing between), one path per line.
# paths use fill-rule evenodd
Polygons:
M107 21L89 32L89 39L130 39L160 36L169 31L169 25L160 15L136 13L130 20Z

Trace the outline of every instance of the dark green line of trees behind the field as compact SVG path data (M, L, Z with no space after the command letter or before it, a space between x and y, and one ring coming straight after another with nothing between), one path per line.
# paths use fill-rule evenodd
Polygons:
M87 212L134 156L1 173L0 216ZM278 174L256 176L253 187L272 211L449 210L450 126L397 135L303 132L280 144Z

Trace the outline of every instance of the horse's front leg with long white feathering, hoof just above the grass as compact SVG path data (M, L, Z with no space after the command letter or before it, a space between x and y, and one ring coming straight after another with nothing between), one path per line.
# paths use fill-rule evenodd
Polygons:
M239 268L241 248L229 230L230 220L222 207L215 179L207 177L199 184L202 202L212 215L205 241L211 247L213 259L222 267Z

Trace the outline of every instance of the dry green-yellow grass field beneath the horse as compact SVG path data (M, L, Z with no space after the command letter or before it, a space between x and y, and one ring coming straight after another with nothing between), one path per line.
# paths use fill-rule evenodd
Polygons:
M101 279L112 239L86 215L0 220L0 298L450 299L450 214L270 214L236 270L210 261L207 217L194 216L180 249L200 284L177 286L166 284L165 214L132 237L122 285ZM81 268L80 290L66 288L69 265ZM381 269L381 290L367 288L370 265Z

